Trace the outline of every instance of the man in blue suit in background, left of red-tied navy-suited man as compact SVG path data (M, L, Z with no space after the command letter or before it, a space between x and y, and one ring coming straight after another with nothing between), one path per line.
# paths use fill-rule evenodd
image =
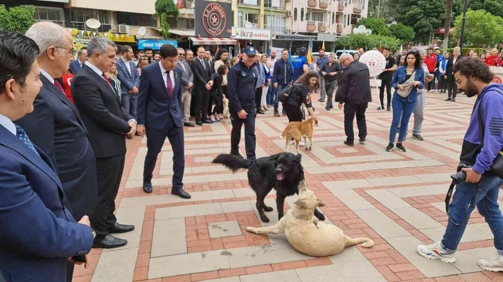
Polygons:
M117 60L117 78L121 81L122 106L126 113L136 118L140 74L136 69L136 64L132 61L133 49L130 46L123 45L121 53L122 57Z

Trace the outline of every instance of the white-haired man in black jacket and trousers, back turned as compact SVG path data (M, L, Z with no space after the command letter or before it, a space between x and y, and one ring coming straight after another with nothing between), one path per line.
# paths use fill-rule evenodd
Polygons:
M346 133L346 141L344 144L354 146L353 120L355 120L355 115L360 143L365 142L367 137L365 111L367 111L369 102L372 102L370 73L367 65L355 61L353 56L347 53L341 55L340 64L346 68L344 68L342 81L335 94L335 102L339 102L339 109L342 109L342 104L345 103L344 132Z

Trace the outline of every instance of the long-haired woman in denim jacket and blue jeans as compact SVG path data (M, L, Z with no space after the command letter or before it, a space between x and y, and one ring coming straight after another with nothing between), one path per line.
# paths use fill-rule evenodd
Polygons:
M396 69L391 82L393 88L395 88L393 100L391 101L393 122L391 122L391 128L389 129L389 144L386 151L394 149L396 131L399 125L400 133L398 134L396 149L401 152L406 151L402 142L407 134L410 116L417 104L417 90L425 88L425 71L419 53L416 50L410 50L405 60L407 63L405 66L399 66ZM400 91L400 94L398 94L398 91ZM409 92L408 95L407 92Z

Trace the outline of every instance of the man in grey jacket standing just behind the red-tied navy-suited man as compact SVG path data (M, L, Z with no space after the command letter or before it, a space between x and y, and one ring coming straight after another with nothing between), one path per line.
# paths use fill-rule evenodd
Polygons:
M178 62L177 68L182 70L182 86L184 89L182 91L182 104L184 105L184 126L194 127L195 124L191 123L191 91L194 85L194 73L191 70L191 66L185 62L185 50L183 48L177 48L178 50Z

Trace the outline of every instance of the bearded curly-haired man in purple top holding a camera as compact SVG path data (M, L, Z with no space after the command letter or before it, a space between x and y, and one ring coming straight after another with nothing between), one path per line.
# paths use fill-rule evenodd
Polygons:
M459 241L477 206L493 232L497 250L491 259L480 260L479 266L503 271L503 216L497 204L503 180L499 177L501 169L496 169L501 161L497 156L503 147L503 85L491 84L493 73L477 58L459 60L453 71L459 91L468 97L478 95L461 149L458 167L461 173L456 175L465 179L457 185L449 205L443 239L432 245L418 245L417 252L428 259L454 263Z

